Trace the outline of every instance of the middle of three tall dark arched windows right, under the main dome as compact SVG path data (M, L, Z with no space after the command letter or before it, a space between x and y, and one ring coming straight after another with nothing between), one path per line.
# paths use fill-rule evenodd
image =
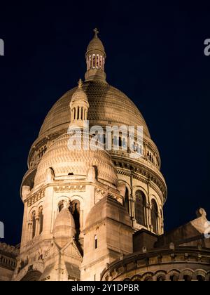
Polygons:
M136 192L135 217L137 223L146 226L146 197L141 190Z

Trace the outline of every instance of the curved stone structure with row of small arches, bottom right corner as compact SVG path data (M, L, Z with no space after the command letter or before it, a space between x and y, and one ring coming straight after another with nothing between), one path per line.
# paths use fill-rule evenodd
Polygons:
M210 249L179 247L122 256L106 266L102 281L210 280Z

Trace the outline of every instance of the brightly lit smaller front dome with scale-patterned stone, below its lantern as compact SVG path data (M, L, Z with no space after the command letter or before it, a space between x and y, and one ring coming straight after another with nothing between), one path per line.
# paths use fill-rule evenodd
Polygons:
M118 177L115 166L111 161L111 156L104 150L69 150L69 134L59 136L48 147L38 164L34 185L44 183L47 179L47 171L52 168L55 176L74 176L86 177L89 169L97 166L98 178L110 183L118 184ZM87 145L89 138L85 138L83 143ZM90 146L91 147L91 146Z

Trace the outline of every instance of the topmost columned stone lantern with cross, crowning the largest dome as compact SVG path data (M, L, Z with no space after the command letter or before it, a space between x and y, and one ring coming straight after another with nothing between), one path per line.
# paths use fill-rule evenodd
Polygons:
M98 34L98 29L94 29L94 37L87 46L85 81L99 80L106 82L106 74L104 72L106 53Z

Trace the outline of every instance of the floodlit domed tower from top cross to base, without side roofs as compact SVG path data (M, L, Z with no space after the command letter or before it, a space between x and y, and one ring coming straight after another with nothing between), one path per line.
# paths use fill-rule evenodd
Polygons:
M134 232L163 233L167 187L158 148L132 100L107 83L98 34L94 29L87 46L85 81L53 105L31 146L13 280L100 280L107 263L132 253ZM106 136L83 129L87 120L102 131L118 126L111 150ZM142 141L134 136L132 150L122 125L143 126ZM71 148L79 136L89 149ZM91 148L95 138L97 149Z

